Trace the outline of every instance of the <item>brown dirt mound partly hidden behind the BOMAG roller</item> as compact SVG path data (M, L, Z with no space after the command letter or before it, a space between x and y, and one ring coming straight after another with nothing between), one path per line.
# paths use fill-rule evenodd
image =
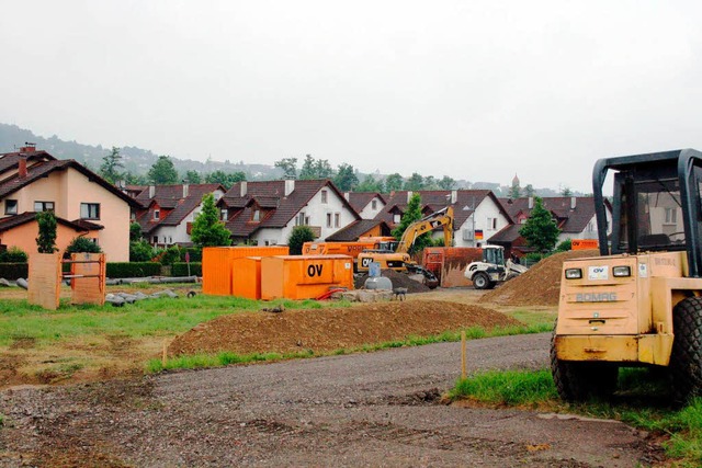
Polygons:
M557 306L563 262L597 256L597 250L569 250L551 255L529 271L483 296L483 301L503 306Z

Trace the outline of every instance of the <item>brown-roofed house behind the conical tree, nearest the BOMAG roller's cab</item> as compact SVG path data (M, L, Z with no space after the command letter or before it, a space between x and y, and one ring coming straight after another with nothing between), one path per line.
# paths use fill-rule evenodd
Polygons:
M529 252L526 240L519 235L522 225L526 222L531 210L534 208L534 197L521 197L517 199L501 198L505 209L514 220L512 226L505 228L494 239L492 242L503 246L508 251L514 253ZM597 239L598 227L595 217L595 199L591 196L556 196L543 197L543 206L553 216L554 222L561 229L558 241L567 239ZM608 201L604 202L607 209L608 235L611 233L612 207Z

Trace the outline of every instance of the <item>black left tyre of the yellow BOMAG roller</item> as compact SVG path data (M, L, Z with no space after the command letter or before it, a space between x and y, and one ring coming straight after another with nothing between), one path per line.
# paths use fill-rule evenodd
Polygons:
M614 363L562 361L556 356L556 332L551 340L551 374L558 396L567 401L608 398L616 389L619 366Z

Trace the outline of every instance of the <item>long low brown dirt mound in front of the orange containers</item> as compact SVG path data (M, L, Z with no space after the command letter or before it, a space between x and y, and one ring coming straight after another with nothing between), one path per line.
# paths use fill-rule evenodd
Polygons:
M333 351L428 336L466 327L505 327L517 320L466 304L408 300L347 308L241 312L201 323L178 336L169 355Z

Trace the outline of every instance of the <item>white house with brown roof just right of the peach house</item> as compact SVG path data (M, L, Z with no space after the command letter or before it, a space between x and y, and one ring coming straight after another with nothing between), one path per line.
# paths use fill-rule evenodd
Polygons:
M136 195L141 206L134 213L134 220L154 246L189 244L192 224L208 193L218 201L225 189L216 183L149 185Z

